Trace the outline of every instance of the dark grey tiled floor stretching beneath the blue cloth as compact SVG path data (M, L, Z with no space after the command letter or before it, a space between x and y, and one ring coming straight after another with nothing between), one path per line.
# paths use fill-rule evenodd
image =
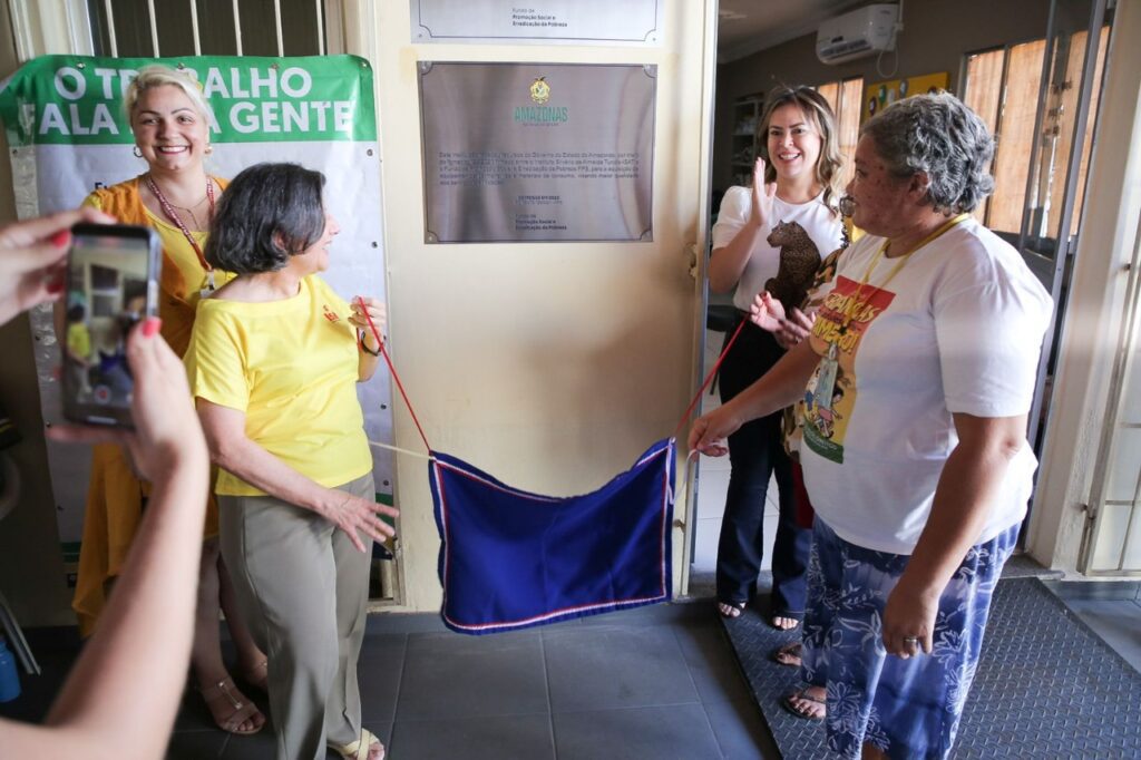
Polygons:
M74 657L33 646L50 673L0 714L42 719ZM374 615L358 672L364 722L394 760L779 757L709 599L488 637ZM273 757L269 731L222 734L186 696L168 758Z

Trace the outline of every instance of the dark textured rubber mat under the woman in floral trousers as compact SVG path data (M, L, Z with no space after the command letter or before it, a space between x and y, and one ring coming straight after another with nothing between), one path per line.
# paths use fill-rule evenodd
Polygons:
M770 628L753 607L725 628L782 755L828 757L823 723L779 704L800 679L769 654L796 637ZM1003 580L952 757L1141 758L1138 705L1141 673L1039 580Z

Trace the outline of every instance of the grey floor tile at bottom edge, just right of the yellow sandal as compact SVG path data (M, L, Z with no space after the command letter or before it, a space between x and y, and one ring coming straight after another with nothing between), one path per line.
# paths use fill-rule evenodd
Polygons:
M553 760L551 719L541 714L399 721L393 728L388 757L399 760Z

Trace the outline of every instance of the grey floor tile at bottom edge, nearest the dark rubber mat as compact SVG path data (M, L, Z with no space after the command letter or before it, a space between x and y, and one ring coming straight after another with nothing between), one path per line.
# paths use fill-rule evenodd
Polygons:
M699 704L558 713L555 745L559 760L721 758Z

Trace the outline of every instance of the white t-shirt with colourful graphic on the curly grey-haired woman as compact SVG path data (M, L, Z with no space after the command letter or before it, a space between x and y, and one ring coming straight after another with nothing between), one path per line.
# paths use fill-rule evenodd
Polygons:
M860 289L883 242L852 244L818 312L822 361L798 404L800 458L812 506L836 535L909 555L958 443L952 414L1029 412L1052 302L1018 252L973 218L898 269L880 257ZM1023 444L976 543L1025 517L1036 467Z

